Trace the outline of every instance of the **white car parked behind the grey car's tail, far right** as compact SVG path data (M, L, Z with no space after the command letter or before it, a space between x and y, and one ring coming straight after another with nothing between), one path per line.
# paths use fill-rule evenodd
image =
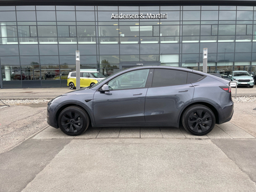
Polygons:
M254 79L246 70L234 70L228 77L231 81L236 81L237 86L254 86Z

